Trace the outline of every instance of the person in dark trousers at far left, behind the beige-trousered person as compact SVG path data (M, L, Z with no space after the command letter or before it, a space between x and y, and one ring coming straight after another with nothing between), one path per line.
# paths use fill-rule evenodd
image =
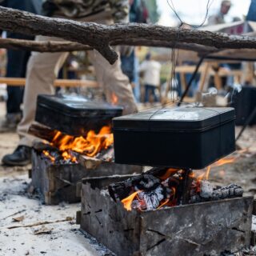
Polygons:
M0 6L26 10L30 13L39 14L42 0L0 0ZM1 34L2 31L0 31ZM7 38L34 40L33 36L6 33ZM30 51L27 50L7 50L6 78L25 78L26 63L30 58ZM6 118L0 123L0 132L14 131L18 122L22 119L22 98L24 86L7 85Z

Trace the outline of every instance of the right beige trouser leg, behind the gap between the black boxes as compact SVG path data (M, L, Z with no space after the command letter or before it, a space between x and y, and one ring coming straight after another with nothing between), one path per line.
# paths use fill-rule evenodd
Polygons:
M106 61L97 50L90 51L90 60L94 64L97 81L106 94L107 102L112 102L117 97L118 105L123 106L123 114L137 112L134 94L129 78L122 73L120 58L113 65Z

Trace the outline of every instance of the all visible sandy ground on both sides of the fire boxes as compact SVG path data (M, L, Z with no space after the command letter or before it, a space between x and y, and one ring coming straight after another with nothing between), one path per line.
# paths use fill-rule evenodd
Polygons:
M0 118L3 114L0 102ZM12 152L17 142L17 134L0 134L0 158ZM233 154L235 162L213 167L210 180L220 186L237 183L246 195L256 197L256 126L246 130L238 146L242 150ZM74 218L80 204L45 206L28 197L29 168L0 166L0 256L107 255L105 248L78 230Z

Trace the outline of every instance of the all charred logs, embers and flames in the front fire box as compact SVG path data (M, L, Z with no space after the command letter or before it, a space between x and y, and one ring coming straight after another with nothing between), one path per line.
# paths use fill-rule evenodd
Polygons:
M218 162L215 162L211 166L207 166L202 172L190 172L188 178L190 178L192 184L188 190L190 194L190 202L202 202L200 200L208 200L213 197L213 200L226 196L228 191L232 194L233 190L236 190L236 196L240 196L242 189L234 184L223 187L221 190L214 190L213 186L208 182L210 176L210 169L213 166L222 166L231 162L234 162L236 158L223 158ZM180 203L180 188L182 182L186 182L186 176L184 176L185 170L178 170L169 168L164 174L161 172L157 175L144 174L142 175L139 185L134 186L130 191L130 195L122 199L122 203L126 210L155 210L166 206L176 206ZM198 174L199 172L199 174ZM140 186L145 187L142 188ZM138 190L134 192L134 190ZM231 192L230 192L231 191ZM232 196L230 194L230 196ZM198 201L197 201L198 200Z

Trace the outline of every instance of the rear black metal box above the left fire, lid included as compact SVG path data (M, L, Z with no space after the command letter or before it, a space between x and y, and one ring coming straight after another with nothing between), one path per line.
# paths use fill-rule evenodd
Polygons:
M38 95L35 120L63 133L79 136L98 131L122 115L121 106L90 102L82 96Z

